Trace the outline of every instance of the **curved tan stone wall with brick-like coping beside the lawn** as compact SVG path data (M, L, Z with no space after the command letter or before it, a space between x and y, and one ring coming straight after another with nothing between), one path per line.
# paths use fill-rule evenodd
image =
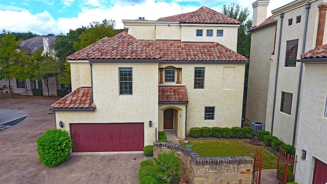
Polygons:
M244 184L252 181L250 156L200 157L190 148L166 142L153 142L153 156L173 151L181 160L181 177L194 184Z

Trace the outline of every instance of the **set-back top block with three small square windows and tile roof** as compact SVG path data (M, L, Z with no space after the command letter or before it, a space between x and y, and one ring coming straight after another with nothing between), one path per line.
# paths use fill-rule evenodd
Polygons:
M237 51L241 22L207 7L157 20L138 17L122 20L128 33L136 39L178 40L181 42L218 42Z

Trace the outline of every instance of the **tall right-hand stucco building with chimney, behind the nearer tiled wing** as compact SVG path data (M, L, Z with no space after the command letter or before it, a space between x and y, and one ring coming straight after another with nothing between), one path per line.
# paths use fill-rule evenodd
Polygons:
M297 0L273 10L269 1L253 6L246 118L296 147L299 98L305 68L296 59L327 43L324 0ZM323 20L323 21L322 21Z

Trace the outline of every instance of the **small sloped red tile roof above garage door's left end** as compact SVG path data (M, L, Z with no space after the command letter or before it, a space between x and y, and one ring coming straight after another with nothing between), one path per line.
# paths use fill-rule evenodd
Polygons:
M95 110L91 87L78 87L52 104L50 110Z

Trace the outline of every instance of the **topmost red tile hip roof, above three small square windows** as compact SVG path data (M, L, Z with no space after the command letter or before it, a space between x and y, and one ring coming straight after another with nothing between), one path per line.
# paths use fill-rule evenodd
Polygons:
M190 24L241 24L239 20L233 19L205 6L194 12L162 17L157 21L179 21L179 23Z

